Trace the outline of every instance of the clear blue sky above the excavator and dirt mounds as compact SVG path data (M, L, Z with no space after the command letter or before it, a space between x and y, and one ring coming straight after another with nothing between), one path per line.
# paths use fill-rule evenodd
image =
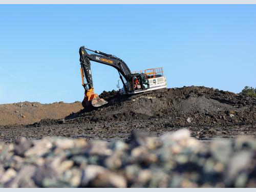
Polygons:
M255 5L0 5L0 103L81 101L80 46L163 67L169 88L256 87ZM92 73L117 89L114 68Z

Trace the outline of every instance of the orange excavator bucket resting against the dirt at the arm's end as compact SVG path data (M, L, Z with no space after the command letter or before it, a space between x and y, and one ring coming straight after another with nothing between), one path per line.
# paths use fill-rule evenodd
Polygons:
M86 90L86 92L84 93L82 106L86 108L89 105L92 105L95 108L98 108L99 106L104 105L106 103L108 103L108 101L105 101L104 99L100 98L98 94L94 93L92 88L92 89Z

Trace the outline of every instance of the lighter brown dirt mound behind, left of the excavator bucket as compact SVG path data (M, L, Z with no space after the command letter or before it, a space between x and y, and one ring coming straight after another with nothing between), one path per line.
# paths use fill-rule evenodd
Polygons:
M81 109L81 102L41 104L26 101L0 104L0 125L31 124L47 118L60 119Z

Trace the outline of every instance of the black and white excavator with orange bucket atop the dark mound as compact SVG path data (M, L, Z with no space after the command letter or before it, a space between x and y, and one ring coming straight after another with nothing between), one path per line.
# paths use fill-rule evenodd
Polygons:
M88 54L88 51L94 52ZM163 68L146 69L143 71L131 72L126 63L115 55L106 54L101 51L94 51L84 46L79 49L82 86L85 90L82 101L83 108L92 105L99 107L108 103L94 93L93 79L91 71L91 62L95 61L115 68L122 81L123 88L119 90L120 94L137 94L145 91L152 91L166 88L166 79L163 76ZM87 83L84 83L86 77Z

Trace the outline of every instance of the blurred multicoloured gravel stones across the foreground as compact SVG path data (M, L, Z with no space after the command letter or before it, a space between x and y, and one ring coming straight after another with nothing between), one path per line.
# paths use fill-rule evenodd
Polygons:
M256 187L256 140L200 142L180 130L121 140L0 144L1 187Z

